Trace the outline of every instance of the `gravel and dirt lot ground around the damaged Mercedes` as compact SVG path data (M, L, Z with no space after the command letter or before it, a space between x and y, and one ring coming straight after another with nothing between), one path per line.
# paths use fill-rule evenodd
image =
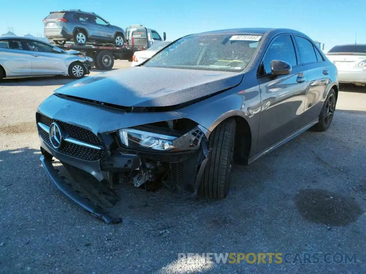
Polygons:
M0 273L366 273L366 88L342 87L327 132L305 132L234 167L227 199L186 201L126 185L123 222L107 225L59 194L39 160L34 113L70 81L0 84ZM181 252L291 255L280 264L217 264L186 263ZM319 263L303 252L318 252ZM337 252L356 262L327 263L327 252L328 262Z

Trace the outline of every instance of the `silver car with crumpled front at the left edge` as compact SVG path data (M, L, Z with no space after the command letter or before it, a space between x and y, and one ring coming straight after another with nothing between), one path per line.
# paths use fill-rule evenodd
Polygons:
M0 37L0 80L4 77L69 75L80 79L90 73L93 59L67 53L49 43L24 37Z

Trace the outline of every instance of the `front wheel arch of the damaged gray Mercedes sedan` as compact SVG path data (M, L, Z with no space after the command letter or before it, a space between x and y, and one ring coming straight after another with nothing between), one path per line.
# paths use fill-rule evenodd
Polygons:
M249 122L243 116L243 111L230 111L219 118L210 126L209 134L222 122L227 119L235 119L235 146L234 146L234 163L239 165L247 165L252 147L252 130ZM209 134L206 137L209 138Z

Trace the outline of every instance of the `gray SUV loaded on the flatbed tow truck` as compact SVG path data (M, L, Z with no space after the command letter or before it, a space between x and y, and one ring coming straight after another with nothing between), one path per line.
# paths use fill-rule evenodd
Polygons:
M94 12L80 9L50 12L43 22L45 37L59 45L73 40L78 44L97 41L122 46L126 37L123 28L109 24Z

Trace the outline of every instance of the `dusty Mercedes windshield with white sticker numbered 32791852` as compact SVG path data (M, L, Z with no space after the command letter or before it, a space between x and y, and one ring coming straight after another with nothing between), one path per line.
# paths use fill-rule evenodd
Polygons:
M261 36L206 34L183 37L144 66L242 71L249 64Z

